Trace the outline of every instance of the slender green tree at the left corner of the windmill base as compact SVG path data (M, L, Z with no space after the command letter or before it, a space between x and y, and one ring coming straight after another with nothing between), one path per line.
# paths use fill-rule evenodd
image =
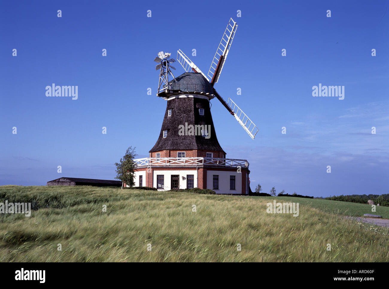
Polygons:
M126 154L123 158L120 159L120 163L115 163L116 166L116 179L122 181L123 183L133 187L135 185L135 172L134 169L137 167L137 164L134 162L134 158L137 156L135 153L135 148L131 146L126 150Z

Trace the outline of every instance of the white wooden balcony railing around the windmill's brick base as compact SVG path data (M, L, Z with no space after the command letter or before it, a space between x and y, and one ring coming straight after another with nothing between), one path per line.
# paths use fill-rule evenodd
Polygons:
M143 166L220 166L220 167L244 167L249 168L247 160L221 159L207 157L180 157L180 158L143 158L135 159L137 167Z

